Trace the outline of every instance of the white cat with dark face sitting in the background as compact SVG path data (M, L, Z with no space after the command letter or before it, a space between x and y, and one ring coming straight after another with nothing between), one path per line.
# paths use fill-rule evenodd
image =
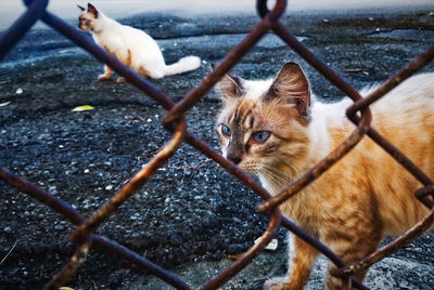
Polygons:
M158 44L144 31L119 24L90 3L87 10L80 5L78 8L81 10L78 28L90 31L100 47L144 78L159 79L194 70L201 66L197 56L182 57L173 65L166 65ZM112 77L112 69L107 65L104 68L105 72L98 77L100 80ZM123 77L117 79L117 82L124 81Z

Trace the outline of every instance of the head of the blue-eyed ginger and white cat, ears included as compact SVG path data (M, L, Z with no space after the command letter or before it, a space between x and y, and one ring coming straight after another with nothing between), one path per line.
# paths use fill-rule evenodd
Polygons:
M225 76L219 84L216 130L226 158L251 174L305 158L310 90L297 64L285 64L275 80Z

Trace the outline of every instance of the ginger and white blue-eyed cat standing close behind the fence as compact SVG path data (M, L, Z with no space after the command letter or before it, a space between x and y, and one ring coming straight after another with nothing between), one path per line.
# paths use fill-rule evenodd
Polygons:
M434 177L434 74L410 78L371 105L372 127ZM345 117L352 104L311 100L309 82L295 63L277 77L248 81L225 76L217 134L222 155L276 195L340 145L355 126ZM362 93L363 94L363 93ZM365 92L366 94L366 92ZM427 209L413 193L420 187L387 153L363 137L342 160L281 206L282 213L321 240L345 263L399 235ZM265 289L303 289L318 251L290 234L286 277ZM363 280L367 271L355 278ZM326 289L345 289L328 275Z

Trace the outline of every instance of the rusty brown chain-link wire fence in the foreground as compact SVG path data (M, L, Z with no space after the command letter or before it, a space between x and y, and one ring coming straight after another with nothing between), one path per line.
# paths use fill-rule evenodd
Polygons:
M143 256L132 252L131 250L118 245L107 238L92 234L104 221L113 214L113 212L131 195L133 195L143 184L152 177L154 172L161 168L179 148L182 142L192 145L199 151L213 159L215 162L233 174L245 186L259 195L265 202L258 206L258 211L270 217L268 228L260 237L260 242L253 246L239 260L237 260L227 269L220 273L216 278L212 279L202 289L216 289L231 279L268 245L275 235L277 235L280 226L283 226L297 235L301 239L315 247L319 252L323 253L334 265L335 269L332 275L342 279L352 279L353 287L357 289L368 289L359 281L352 278L357 271L365 269L371 264L378 262L391 252L403 247L405 243L414 239L418 235L424 232L434 221L433 208L433 181L417 166L414 166L406 156L404 156L393 144L385 140L379 132L370 127L371 113L369 106L390 92L394 87L410 77L434 57L434 45L431 45L427 51L412 61L407 67L403 68L398 74L388 79L383 85L378 88L367 97L361 97L359 93L346 83L332 69L319 61L304 44L298 42L296 38L288 31L288 29L279 23L286 8L285 0L278 0L275 8L269 11L266 0L257 0L257 10L261 16L261 21L254 29L244 38L244 40L234 47L220 64L206 76L202 82L194 88L179 103L174 103L169 96L153 85L146 79L140 77L136 71L124 66L117 58L110 55L107 52L95 45L87 37L78 34L77 30L67 25L65 22L51 14L46 10L48 0L25 0L27 5L26 12L15 21L15 23L0 38L0 60L22 39L24 34L38 21L41 19L47 25L60 31L64 37L84 48L99 61L107 64L115 71L126 77L126 79L139 88L148 96L155 100L163 108L167 110L167 115L163 120L163 126L171 132L171 139L166 145L153 157L145 168L140 170L123 188L113 195L113 197L103 206L100 207L89 219L85 219L72 206L56 198L37 185L17 176L0 164L0 176L8 184L28 194L33 198L49 206L56 212L61 213L65 219L75 224L77 228L71 235L71 240L77 245L76 252L71 258L69 262L64 265L59 273L52 277L44 289L56 289L64 285L76 269L85 262L88 251L91 247L102 251L118 255L124 260L135 264L137 267L155 275L168 285L177 289L190 289L186 282L173 276L167 271L151 263ZM356 126L356 130L329 156L322 159L318 164L303 174L296 182L290 185L279 195L271 197L258 183L250 175L245 174L231 161L225 159L217 151L213 150L205 142L201 141L187 129L187 122L183 115L191 109L217 81L227 74L267 32L273 31L289 47L298 53L314 68L320 71L330 82L337 87L343 93L354 101L354 104L347 109L346 115ZM384 148L396 161L405 167L422 185L416 192L417 198L423 202L425 207L431 209L429 214L419 224L414 225L405 235L398 237L393 242L379 249L371 255L356 262L352 265L346 265L335 253L328 247L308 235L305 230L297 227L286 217L281 216L278 206L288 200L291 196L297 194L309 183L318 179L333 163L340 160L347 154L365 135L368 135L381 147Z

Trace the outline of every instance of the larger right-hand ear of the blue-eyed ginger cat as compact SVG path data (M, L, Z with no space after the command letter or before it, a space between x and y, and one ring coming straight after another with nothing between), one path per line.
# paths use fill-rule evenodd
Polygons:
M301 116L308 115L310 88L302 67L293 62L286 63L279 70L264 101L278 100L292 104Z

